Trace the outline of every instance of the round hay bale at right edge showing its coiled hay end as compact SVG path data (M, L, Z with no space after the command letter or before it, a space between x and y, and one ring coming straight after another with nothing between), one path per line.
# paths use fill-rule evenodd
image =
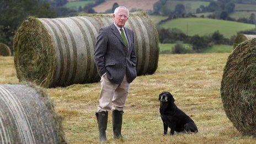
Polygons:
M237 130L256 136L256 39L242 42L228 57L221 98L227 117Z

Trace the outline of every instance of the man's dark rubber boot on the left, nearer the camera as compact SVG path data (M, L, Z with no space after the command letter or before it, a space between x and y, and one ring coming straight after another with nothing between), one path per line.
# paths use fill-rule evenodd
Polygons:
M95 113L98 121L99 127L99 141L106 141L106 124L108 124L108 111L101 111L99 113Z

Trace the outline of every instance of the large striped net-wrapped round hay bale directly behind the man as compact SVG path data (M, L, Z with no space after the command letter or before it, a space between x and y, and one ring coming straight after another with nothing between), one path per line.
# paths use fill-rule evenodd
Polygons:
M29 18L14 38L19 80L44 87L98 82L93 60L96 38L99 29L111 23L111 14ZM135 34L137 75L153 74L159 56L156 28L145 13L131 13L126 26Z

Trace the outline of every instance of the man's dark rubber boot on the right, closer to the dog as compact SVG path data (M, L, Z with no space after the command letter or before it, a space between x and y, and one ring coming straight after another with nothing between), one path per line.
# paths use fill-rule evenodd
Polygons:
M121 129L122 129L122 114L124 111L113 110L112 113L112 125L114 138L122 138Z

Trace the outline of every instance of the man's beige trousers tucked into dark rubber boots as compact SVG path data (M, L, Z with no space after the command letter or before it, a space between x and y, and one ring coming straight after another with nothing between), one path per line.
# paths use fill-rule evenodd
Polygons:
M109 81L105 73L100 79L100 86L101 91L97 111L124 110L130 88L126 75L121 84L115 84Z

